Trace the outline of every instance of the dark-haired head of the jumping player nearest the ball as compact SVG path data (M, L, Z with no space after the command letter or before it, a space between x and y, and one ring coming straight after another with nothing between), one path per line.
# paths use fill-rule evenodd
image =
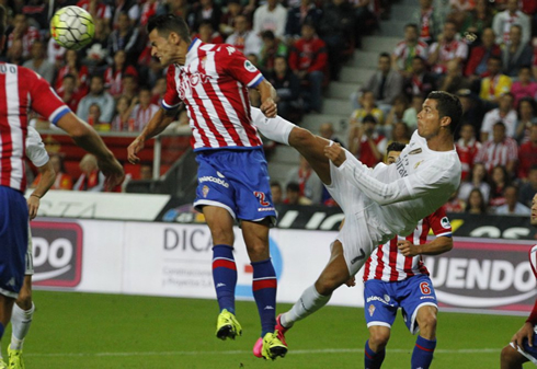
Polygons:
M157 15L149 19L147 33L151 43L151 56L162 66L176 62L184 66L191 36L186 22L172 14Z

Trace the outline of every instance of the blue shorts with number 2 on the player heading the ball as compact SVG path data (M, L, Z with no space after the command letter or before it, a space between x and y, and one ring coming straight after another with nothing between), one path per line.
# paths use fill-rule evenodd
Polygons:
M235 219L259 221L271 217L275 222L276 209L261 149L202 151L196 161L196 210L212 205L225 208Z

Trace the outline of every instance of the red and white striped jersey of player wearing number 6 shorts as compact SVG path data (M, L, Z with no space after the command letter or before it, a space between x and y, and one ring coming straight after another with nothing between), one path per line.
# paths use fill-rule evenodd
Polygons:
M427 234L431 229L436 237L452 235L452 224L443 207L420 220L412 234L398 235L375 249L365 264L364 281L369 279L398 281L420 274L429 276L422 256L403 256L397 249L397 242L408 240L413 244L424 244L427 242Z

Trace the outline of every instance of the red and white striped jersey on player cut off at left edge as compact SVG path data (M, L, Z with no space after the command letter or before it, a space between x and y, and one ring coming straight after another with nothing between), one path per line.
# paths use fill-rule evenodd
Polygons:
M24 157L31 109L53 124L70 112L33 70L0 62L0 186L21 192L26 189Z

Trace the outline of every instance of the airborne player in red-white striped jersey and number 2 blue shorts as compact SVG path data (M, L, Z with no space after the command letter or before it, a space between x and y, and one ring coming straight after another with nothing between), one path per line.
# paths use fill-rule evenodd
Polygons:
M188 27L179 16L151 18L148 34L151 55L169 66L168 87L162 108L129 146L128 159L139 161L136 153L144 142L174 119L175 107L183 102L199 164L194 206L203 211L214 244L213 279L220 308L216 336L235 338L242 330L235 316L232 228L235 220L240 220L262 327L253 354L266 359L283 357L287 346L274 330L277 281L268 253L268 227L276 212L248 94L248 89L256 89L261 111L266 117L275 117L275 90L235 47L191 41Z

